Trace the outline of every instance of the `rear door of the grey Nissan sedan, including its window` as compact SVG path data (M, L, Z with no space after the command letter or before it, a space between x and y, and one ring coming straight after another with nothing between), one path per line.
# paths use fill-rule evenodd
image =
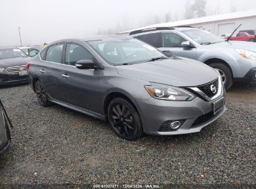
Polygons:
M61 68L62 68L62 53L64 44L51 45L46 49L43 61L37 65L40 81L45 87L45 90L50 94L51 98L60 99L61 93Z

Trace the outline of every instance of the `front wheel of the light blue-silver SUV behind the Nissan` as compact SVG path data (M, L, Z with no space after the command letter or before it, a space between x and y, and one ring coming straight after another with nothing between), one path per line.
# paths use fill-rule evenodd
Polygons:
M224 63L217 62L211 63L209 66L219 71L225 89L228 90L233 85L232 73L229 67L227 67L227 65L225 65Z

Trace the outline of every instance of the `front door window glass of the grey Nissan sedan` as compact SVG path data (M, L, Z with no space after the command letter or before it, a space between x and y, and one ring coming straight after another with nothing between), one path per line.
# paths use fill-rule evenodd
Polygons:
M80 45L67 44L65 64L74 66L78 60L92 60L93 56Z

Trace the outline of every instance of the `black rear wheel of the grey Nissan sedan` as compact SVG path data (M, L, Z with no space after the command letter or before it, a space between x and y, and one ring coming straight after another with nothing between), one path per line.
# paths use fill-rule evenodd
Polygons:
M41 81L39 80L36 81L35 92L36 92L36 96L39 104L41 104L44 107L49 106L51 104L47 98L45 88L42 85Z

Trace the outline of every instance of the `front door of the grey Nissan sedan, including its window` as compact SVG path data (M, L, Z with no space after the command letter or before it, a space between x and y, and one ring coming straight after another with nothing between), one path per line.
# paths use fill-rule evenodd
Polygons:
M65 103L97 112L98 107L98 75L100 70L80 70L75 67L78 60L92 60L93 55L80 44L67 43L65 61L62 69L62 87Z

